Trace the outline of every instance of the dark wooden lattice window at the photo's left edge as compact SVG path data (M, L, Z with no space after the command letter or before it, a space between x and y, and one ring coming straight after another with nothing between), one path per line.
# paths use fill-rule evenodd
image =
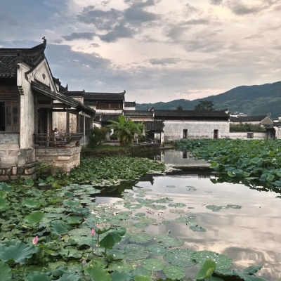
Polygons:
M18 131L18 102L0 101L0 131Z

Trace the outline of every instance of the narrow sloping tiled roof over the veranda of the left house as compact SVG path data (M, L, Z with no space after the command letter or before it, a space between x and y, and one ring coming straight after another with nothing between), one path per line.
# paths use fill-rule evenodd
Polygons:
M63 95L62 93L55 93L51 91L50 87L37 81L36 79L31 82L32 89L35 91L38 91L39 93L44 94L45 96L48 96L49 98L52 98L53 100L58 100L60 103L63 103L65 105L69 105L71 107L76 108L77 110L84 111L86 113L89 113L90 115L95 114L95 110L93 110L91 107L84 105L82 103L79 103L79 101L74 100L73 98L67 97Z

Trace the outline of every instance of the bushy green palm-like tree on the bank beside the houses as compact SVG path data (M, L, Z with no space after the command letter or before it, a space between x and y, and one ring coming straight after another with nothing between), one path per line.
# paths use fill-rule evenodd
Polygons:
M143 136L143 122L136 123L120 115L118 122L110 120L110 123L110 125L107 125L107 128L114 130L115 136L119 138L121 146L133 145L135 134L140 138Z

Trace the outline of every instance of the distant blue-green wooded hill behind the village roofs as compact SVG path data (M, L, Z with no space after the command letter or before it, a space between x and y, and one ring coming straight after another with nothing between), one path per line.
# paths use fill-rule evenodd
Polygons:
M225 93L197 100L172 100L168 103L137 103L136 110L148 110L154 107L157 110L176 110L178 105L183 110L194 110L201 100L214 103L215 110L228 108L230 112L243 112L248 116L267 115L276 118L281 116L281 81L272 84L238 86Z

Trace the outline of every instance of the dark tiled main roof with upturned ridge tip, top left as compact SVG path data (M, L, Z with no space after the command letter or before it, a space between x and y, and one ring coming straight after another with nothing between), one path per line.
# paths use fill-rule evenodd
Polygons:
M45 48L46 43L33 48L0 48L0 77L16 77L18 63L36 67L45 58Z

